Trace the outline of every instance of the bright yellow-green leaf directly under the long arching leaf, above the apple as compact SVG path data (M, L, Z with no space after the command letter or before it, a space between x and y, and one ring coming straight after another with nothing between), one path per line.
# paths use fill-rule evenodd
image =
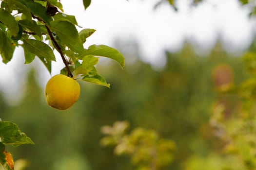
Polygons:
M94 66L98 63L98 58L93 55L86 55L83 57L83 62L81 65L76 64L76 74L86 74L88 75L89 72L94 68Z

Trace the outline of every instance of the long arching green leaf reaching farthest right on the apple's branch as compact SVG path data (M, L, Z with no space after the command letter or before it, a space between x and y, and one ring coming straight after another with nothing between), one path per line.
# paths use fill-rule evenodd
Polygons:
M122 68L125 64L123 55L116 49L106 45L91 45L88 50L84 52L84 55L88 54L111 58L118 62Z

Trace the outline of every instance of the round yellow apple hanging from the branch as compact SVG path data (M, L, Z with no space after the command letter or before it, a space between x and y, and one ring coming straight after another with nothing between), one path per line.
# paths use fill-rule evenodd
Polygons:
M78 101L80 85L76 80L58 74L47 82L44 94L49 106L59 110L66 110Z

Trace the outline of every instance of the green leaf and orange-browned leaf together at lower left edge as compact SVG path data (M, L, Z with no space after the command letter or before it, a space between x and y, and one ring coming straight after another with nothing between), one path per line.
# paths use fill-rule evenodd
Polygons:
M34 142L22 133L15 123L0 120L0 164L5 170L14 169L12 156L5 151L5 145L18 147L22 144L34 144Z

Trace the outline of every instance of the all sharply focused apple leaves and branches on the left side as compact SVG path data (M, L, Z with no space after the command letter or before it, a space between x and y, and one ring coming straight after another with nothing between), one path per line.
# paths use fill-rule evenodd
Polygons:
M91 0L83 0L84 9ZM84 28L78 31L76 17L65 14L60 0L1 0L0 2L0 56L3 63L12 60L14 51L21 46L25 64L38 57L51 73L52 61L56 61L54 50L65 65L61 74L76 80L109 87L95 65L98 57L107 57L124 67L124 57L114 48L106 45L83 47L86 38L95 30ZM59 57L59 56L58 56ZM21 133L15 123L0 121L0 163L5 170L13 170L11 154L5 145L17 147L33 144Z

